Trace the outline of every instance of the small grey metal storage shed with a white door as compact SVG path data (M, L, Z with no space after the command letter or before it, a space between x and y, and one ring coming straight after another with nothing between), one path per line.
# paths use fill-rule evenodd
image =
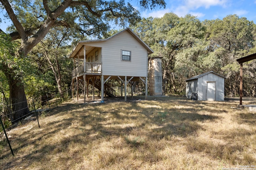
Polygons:
M224 101L225 78L213 71L191 77L186 80L186 97L200 101Z

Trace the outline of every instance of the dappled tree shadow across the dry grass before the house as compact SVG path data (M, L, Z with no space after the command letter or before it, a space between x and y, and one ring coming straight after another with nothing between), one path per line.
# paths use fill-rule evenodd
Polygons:
M45 124L40 123L42 130L37 131L35 128L23 131L12 138L11 142L15 143L14 154L19 155L14 156L10 161L6 160L2 166L11 169L18 166L19 162L24 162L23 166L24 164L29 166L30 160L50 161L48 155L67 153L70 144L87 146L102 138L107 140L121 137L126 142L124 146L138 148L150 145L150 140L159 141L166 136L186 138L189 135L196 135L199 129L203 129L200 123L214 121L219 117L199 114L197 111L204 109L204 104L199 102L201 105L198 109L194 109L193 103L188 100L166 101L161 98L159 101L143 101L143 104L132 101L61 105L52 109L52 116L47 115L42 118L49 119ZM219 110L212 109L212 112L217 111ZM63 118L64 115L66 117ZM56 119L56 117L60 118ZM66 132L69 134L67 135ZM47 140L60 134L66 136L55 141ZM31 151L20 156L22 148L26 147L32 147ZM0 157L10 158L11 154L4 152Z

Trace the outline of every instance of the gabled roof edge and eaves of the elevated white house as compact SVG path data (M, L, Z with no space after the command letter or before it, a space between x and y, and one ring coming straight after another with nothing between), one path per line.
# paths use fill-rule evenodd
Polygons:
M92 42L105 42L115 36L118 36L119 34L121 34L122 32L125 32L125 31L129 32L138 42L140 42L147 49L148 54L154 53L153 49L151 49L135 32L133 32L130 28L126 28L126 29L114 34L113 36L106 38L106 39L79 41L69 57L70 58L75 57L76 54L80 51L80 49L82 49L83 45L86 45L86 44L92 43Z

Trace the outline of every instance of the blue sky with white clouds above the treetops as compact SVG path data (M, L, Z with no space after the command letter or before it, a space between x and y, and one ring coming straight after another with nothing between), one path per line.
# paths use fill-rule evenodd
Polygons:
M160 18L168 12L173 12L179 17L191 14L197 16L199 20L214 20L217 18L222 20L229 14L237 14L239 17L246 17L256 24L256 0L165 0L165 9L156 8L145 11L138 6L137 0L126 0L126 2L130 2L139 10L144 18L149 16ZM0 18L2 18L1 11ZM8 20L2 20L0 28L5 31L9 24Z

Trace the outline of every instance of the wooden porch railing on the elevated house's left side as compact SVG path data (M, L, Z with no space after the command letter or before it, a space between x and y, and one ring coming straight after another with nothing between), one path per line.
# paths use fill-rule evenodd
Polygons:
M101 63L85 63L85 71L86 73L101 73ZM75 77L82 73L84 73L84 63L72 71L72 76Z

